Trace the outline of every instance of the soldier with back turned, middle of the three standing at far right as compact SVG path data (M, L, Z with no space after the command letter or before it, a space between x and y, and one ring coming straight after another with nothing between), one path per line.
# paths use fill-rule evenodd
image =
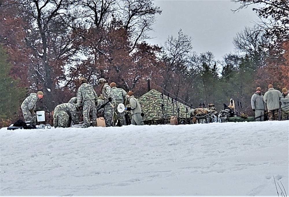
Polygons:
M281 92L275 90L272 84L268 85L268 91L264 94L264 101L268 109L268 120L280 120L280 98Z

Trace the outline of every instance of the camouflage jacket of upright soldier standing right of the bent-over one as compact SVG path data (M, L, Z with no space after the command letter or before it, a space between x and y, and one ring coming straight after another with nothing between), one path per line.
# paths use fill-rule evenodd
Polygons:
M80 106L84 101L97 100L98 96L92 85L83 83L77 90L77 106Z

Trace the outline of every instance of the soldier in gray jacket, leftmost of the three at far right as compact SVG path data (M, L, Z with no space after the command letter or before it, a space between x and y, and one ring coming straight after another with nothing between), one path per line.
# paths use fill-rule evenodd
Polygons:
M257 87L256 92L252 95L251 106L252 110L255 111L255 117L261 116L257 118L256 121L264 121L264 96L261 93L260 87Z

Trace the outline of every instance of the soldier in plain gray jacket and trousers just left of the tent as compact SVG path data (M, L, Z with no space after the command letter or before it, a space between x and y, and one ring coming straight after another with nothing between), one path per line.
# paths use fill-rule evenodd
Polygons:
M127 101L129 102L129 107L127 107L127 110L130 111L132 115L131 124L144 125L142 116L140 115L142 113L142 109L138 99L134 97L134 92L127 92Z

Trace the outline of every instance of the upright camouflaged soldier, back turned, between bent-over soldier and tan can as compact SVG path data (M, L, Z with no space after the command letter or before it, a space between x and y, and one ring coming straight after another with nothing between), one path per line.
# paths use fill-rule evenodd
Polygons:
M81 77L79 79L80 87L77 90L77 107L82 105L82 114L84 126L90 126L90 115L92 116L92 126L97 126L96 122L96 103L97 103L97 94L93 87L88 84L86 78Z

